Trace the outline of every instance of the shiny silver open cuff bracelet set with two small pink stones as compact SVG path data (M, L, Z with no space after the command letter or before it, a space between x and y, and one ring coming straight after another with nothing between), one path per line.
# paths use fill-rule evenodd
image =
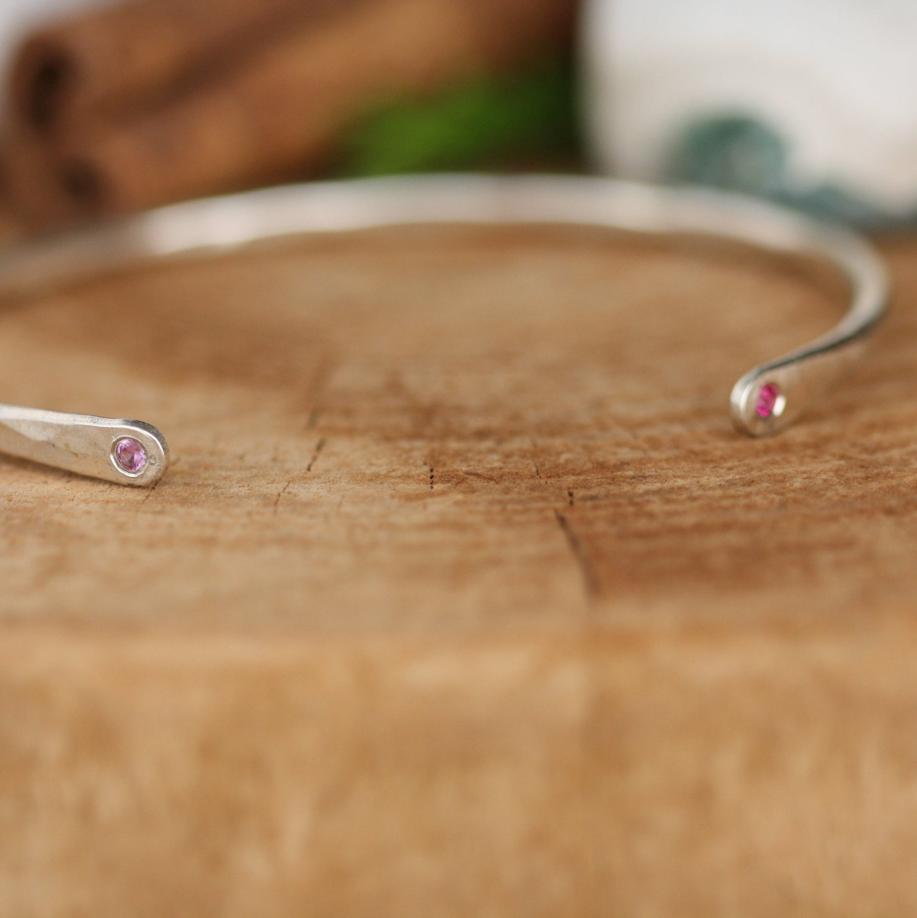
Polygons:
M255 241L404 223L571 223L641 233L699 233L773 252L815 255L844 273L844 318L816 341L755 366L732 388L736 428L775 433L822 397L859 358L888 297L885 269L854 232L787 209L706 189L559 175L431 175L291 185L162 207L138 217L0 252L0 295L21 295L125 264L224 252ZM777 386L759 412L762 387ZM125 431L128 431L127 433ZM123 436L148 453L140 474L112 459ZM0 452L128 485L152 485L168 465L162 434L140 421L0 406Z

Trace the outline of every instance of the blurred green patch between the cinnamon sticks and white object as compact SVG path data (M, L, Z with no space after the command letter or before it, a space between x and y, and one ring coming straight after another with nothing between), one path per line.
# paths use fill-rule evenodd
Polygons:
M562 62L477 76L422 101L378 107L345 138L342 173L448 172L578 153L574 79Z

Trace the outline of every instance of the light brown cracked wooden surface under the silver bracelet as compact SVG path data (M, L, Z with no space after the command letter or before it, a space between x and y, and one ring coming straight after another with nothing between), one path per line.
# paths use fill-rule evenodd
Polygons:
M151 492L0 460L0 916L917 911L917 243L863 370L729 389L821 274L397 229L0 315L13 403L149 420Z

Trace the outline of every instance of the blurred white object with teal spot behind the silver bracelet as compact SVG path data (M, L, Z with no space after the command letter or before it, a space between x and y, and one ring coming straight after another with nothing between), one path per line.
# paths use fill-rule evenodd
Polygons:
M703 177L703 164L677 162L691 131L697 140L699 125L745 119L778 139L786 196L827 193L889 218L917 214L914 0L586 6L585 111L603 171L659 180L673 169L696 178L697 166Z

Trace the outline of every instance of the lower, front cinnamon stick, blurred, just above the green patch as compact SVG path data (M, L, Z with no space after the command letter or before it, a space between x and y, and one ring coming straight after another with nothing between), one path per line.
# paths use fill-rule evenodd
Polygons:
M574 7L573 0L341 6L166 105L62 129L47 146L56 212L124 213L314 174L342 132L379 102L565 48ZM24 210L35 222L36 208Z

